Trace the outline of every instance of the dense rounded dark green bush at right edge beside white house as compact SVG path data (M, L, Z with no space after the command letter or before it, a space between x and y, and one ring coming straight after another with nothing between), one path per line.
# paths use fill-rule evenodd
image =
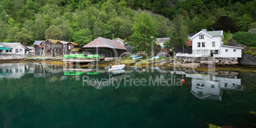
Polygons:
M236 32L232 39L236 39L238 43L243 43L246 46L256 46L256 34L248 32Z

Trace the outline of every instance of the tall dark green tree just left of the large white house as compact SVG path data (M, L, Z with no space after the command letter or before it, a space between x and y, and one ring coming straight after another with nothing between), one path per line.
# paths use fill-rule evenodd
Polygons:
M173 24L171 25L171 35L169 41L164 43L167 48L171 48L176 51L178 48L187 47L186 41L188 40L188 27L183 24L183 16L178 15L173 19Z

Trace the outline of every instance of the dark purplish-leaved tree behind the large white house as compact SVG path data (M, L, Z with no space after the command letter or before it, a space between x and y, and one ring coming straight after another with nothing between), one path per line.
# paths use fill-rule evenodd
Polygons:
M236 22L229 18L228 16L222 16L218 18L215 24L212 25L215 30L223 30L224 32L231 31L232 33L238 31L238 27L236 27Z

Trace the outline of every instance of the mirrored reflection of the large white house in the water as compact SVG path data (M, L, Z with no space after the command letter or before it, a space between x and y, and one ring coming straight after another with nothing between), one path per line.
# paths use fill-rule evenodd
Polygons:
M183 71L176 71L176 74L186 75L186 77L192 78L190 92L199 99L222 101L223 90L243 90L243 86L241 86L241 79L238 78L186 74Z

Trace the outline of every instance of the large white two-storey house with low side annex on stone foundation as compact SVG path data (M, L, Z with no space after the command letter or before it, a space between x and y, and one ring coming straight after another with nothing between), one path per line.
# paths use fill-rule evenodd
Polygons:
M196 57L241 57L243 48L224 45L223 38L223 31L203 29L197 32L191 37L192 54Z

